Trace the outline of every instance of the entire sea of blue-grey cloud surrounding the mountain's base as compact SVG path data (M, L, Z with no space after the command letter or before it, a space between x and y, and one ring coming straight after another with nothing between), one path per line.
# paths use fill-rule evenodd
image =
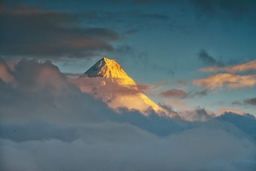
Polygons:
M11 68L0 59L0 71L0 170L256 168L250 113L117 113L48 60L22 59Z

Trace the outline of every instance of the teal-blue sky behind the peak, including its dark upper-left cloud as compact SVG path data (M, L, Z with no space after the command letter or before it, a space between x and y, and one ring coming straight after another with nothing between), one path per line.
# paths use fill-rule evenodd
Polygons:
M215 113L232 108L256 115L255 102L243 103L255 101L255 83L193 84L220 73L200 68L256 59L255 8L254 1L3 1L1 56L50 59L72 74L107 56L135 82L153 87L145 93L156 103L179 100ZM255 67L235 74L255 80ZM173 89L190 95L159 96Z

